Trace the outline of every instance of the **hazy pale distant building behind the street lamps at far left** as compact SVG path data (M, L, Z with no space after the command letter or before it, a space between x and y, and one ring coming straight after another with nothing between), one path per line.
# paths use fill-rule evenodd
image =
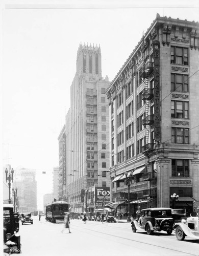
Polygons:
M37 181L34 169L17 168L14 172L13 188L17 188L19 212L37 210Z

